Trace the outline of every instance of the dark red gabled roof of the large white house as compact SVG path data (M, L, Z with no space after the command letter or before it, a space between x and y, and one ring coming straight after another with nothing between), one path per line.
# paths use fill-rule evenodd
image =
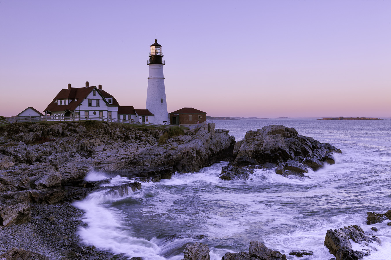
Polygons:
M46 111L74 111L77 106L91 93L93 89L96 89L97 92L102 97L113 97L109 93L104 90L98 90L95 86L86 87L86 88L65 88L61 89L60 92L54 97L53 101L45 108ZM57 104L56 99L72 99L72 101L67 105L59 105ZM105 101L106 102L106 101ZM117 100L113 97L113 104L108 104L108 106L119 106Z

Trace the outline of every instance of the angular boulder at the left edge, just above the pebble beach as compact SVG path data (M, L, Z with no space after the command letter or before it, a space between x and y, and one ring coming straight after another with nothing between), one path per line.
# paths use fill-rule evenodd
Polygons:
M30 221L31 207L26 203L0 204L0 226L11 226Z

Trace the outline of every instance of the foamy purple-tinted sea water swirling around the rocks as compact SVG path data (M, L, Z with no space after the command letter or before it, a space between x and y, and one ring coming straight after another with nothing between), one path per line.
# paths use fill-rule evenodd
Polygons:
M219 120L216 128L230 130L236 140L246 131L266 125L294 127L343 151L335 164L308 178L282 177L273 170L258 169L248 180L219 179L228 162L215 163L199 172L174 175L159 183L142 183L142 189L118 196L98 191L74 205L85 211L79 235L86 244L145 260L180 260L186 244L202 242L210 248L212 260L226 252L248 252L250 241L289 252L307 249L313 256L300 259L328 260L332 255L323 245L328 229L359 225L382 244L370 249L365 260L388 260L391 255L391 227L387 222L366 225L366 212L391 209L391 120ZM90 172L88 180L100 180L102 173ZM129 179L114 177L106 186ZM370 228L375 226L377 232Z

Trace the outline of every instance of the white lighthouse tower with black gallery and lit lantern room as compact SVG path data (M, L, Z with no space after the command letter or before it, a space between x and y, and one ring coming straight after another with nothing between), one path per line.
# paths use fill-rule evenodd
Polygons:
M155 39L154 44L151 45L151 52L149 53L149 76L148 76L148 90L147 90L147 105L146 109L154 114L153 124L168 124L169 116L167 112L166 90L164 87L163 53L161 52L161 45Z

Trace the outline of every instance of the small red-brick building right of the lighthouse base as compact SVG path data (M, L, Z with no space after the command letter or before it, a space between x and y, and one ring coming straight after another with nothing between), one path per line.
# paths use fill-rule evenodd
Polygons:
M206 112L195 108L181 108L170 113L172 125L190 125L197 122L203 123L206 121Z

